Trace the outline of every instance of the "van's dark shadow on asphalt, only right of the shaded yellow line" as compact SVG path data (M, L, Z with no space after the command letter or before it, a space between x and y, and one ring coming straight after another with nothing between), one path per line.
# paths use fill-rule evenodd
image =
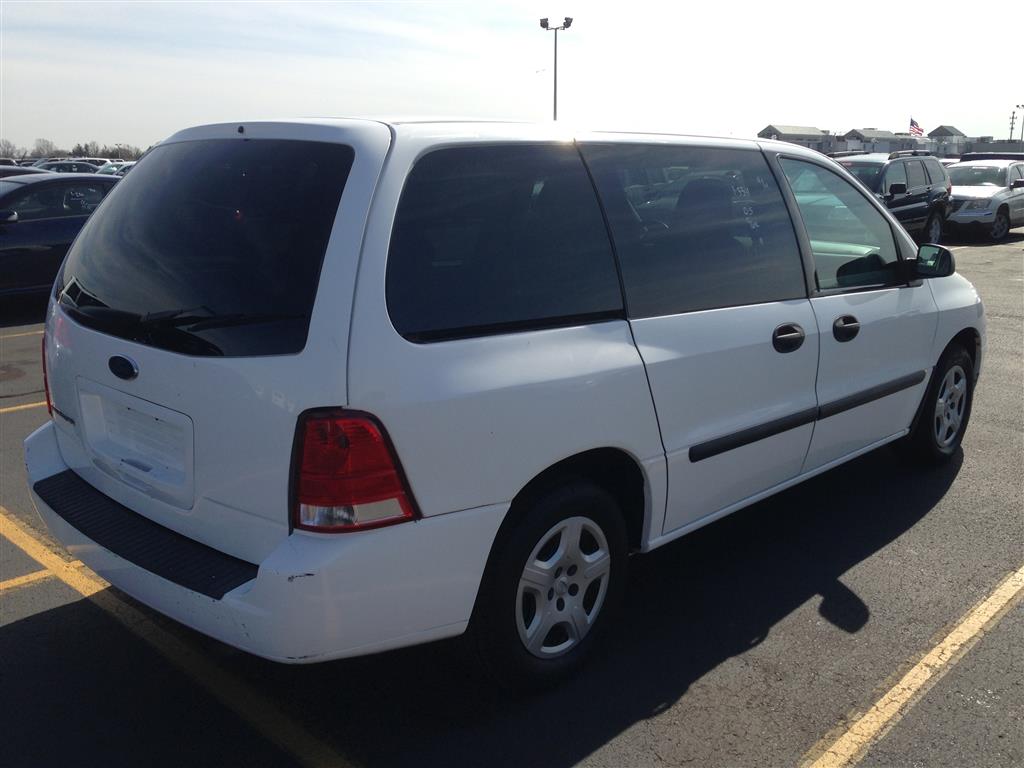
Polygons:
M824 620L857 632L870 606L840 578L926 515L962 463L958 452L944 467L908 470L891 451L874 452L633 558L608 642L579 678L547 693L495 688L458 641L297 670L240 660L357 764L571 766L816 596Z

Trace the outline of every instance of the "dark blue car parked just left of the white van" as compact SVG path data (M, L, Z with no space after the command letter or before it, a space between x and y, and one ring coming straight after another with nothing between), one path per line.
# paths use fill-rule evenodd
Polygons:
M118 180L91 173L0 180L0 296L50 290L78 230Z

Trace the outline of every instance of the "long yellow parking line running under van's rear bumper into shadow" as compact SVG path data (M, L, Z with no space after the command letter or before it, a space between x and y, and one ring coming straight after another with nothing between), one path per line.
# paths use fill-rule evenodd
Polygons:
M98 575L88 568L79 569L76 567L77 563L69 562L51 552L3 506L0 506L0 536L110 613L191 678L193 682L213 694L270 741L296 757L302 765L332 768L350 768L352 765L280 710L266 695L218 667L201 650L117 597L106 589L110 585Z

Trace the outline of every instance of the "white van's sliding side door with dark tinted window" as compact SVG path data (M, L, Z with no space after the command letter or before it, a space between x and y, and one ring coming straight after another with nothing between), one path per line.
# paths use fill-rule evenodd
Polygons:
M818 332L793 223L760 151L582 146L608 215L665 444L664 532L795 477Z

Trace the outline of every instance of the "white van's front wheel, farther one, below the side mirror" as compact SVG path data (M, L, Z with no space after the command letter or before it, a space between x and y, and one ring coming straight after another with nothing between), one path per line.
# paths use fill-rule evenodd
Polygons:
M932 373L913 431L906 438L912 458L941 464L956 453L974 402L974 360L959 344L948 347Z

